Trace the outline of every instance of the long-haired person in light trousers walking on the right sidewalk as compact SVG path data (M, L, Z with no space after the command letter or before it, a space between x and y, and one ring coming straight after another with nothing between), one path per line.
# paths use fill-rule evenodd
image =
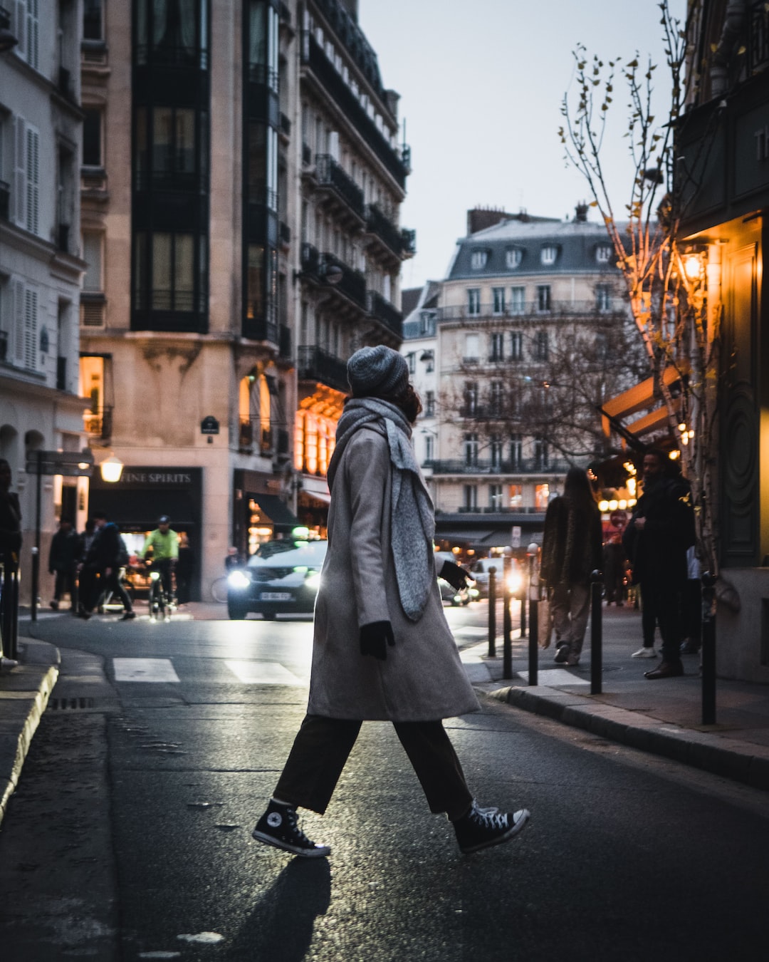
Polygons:
M587 472L569 468L563 494L547 506L540 577L551 590L559 663L580 663L590 613L590 572L601 568L603 533Z

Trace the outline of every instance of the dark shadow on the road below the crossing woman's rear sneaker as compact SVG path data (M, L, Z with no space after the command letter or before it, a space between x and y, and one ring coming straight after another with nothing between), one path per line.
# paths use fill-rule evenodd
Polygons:
M315 919L331 902L328 859L294 858L254 906L228 957L300 962L312 942Z

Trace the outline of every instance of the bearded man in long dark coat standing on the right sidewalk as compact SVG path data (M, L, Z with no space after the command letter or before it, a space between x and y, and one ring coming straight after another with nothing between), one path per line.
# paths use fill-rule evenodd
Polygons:
M643 494L633 509L622 544L633 566L633 584L641 587L641 603L649 620L657 620L662 660L647 678L683 674L681 599L685 590L686 551L694 544L691 493L681 477L665 474L662 451L643 457Z

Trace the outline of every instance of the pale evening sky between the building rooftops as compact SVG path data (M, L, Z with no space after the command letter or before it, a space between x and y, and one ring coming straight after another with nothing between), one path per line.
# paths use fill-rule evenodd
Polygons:
M685 0L671 9L683 19ZM557 133L571 52L583 43L605 61L651 55L660 114L669 79L660 16L658 0L360 0L360 28L385 87L401 94L411 146L401 223L416 229L417 254L404 263L403 288L445 276L472 207L565 217L590 199ZM621 87L606 144L619 210L633 182Z

